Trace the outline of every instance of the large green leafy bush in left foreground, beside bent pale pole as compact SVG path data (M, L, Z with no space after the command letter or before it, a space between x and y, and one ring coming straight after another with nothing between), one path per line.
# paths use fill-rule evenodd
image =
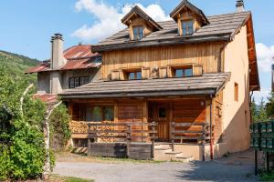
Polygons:
M16 79L0 67L0 180L37 178L43 172L44 137L38 125L41 121L30 125L29 119L41 117L38 109L45 106L31 99L34 90L26 91L24 96L29 81L28 77ZM20 102L22 96L27 105Z

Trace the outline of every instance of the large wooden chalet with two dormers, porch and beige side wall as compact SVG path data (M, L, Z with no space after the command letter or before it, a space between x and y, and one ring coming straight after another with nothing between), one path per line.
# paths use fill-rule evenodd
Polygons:
M92 45L102 57L101 78L59 94L75 146L119 156L122 133L135 157L149 150L136 142L152 141L155 159L201 160L249 148L249 93L259 90L251 12L237 1L236 13L206 16L184 0L170 16L155 22L134 6L121 19L128 28Z

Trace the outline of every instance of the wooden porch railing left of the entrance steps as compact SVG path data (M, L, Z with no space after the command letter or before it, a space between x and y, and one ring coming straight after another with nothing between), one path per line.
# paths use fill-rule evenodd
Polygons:
M157 124L152 123L98 123L98 124L88 124L89 128L95 127L95 129L89 129L88 134L88 148L90 149L90 139L94 138L95 141L98 141L98 138L110 138L113 140L119 139L121 142L126 142L127 145L127 156L129 156L129 149L132 143L132 140L147 141L151 140L152 142L152 157L154 153L154 144L155 139L157 138ZM100 130L98 127L110 127L110 129ZM146 127L146 128L144 128ZM149 128L151 127L151 128ZM140 136L141 134L141 136Z

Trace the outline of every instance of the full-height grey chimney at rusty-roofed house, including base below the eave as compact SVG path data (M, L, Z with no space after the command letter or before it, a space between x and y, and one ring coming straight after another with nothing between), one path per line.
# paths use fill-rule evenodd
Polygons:
M50 68L56 70L50 72L50 94L56 95L62 92L62 76L58 69L65 66L68 61L63 55L63 35L53 35L50 42Z

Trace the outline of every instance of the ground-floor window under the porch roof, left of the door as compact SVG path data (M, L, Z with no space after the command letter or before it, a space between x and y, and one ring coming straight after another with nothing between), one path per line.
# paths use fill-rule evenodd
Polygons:
M113 106L87 106L85 110L86 121L114 121Z

